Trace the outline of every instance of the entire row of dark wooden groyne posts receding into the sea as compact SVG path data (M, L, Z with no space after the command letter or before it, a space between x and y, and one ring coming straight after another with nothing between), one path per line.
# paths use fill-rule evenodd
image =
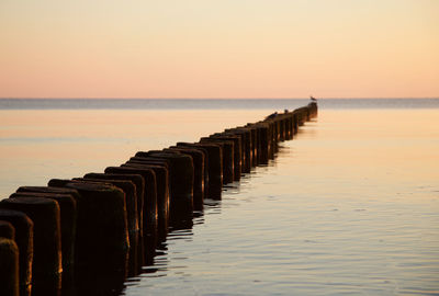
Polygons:
M273 159L317 116L317 104L268 115L125 163L47 186L21 186L0 202L0 295L117 295L154 264L171 229L191 226L204 198Z

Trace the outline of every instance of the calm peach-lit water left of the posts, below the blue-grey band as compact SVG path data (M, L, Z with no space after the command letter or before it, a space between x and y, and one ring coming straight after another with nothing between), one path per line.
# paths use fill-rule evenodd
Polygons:
M272 110L0 110L0 200L127 161L137 151L195 141Z

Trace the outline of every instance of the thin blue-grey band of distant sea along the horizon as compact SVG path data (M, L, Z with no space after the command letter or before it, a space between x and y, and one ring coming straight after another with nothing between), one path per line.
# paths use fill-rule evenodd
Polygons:
M0 110L293 110L309 99L0 99ZM439 98L320 99L325 109L439 109Z

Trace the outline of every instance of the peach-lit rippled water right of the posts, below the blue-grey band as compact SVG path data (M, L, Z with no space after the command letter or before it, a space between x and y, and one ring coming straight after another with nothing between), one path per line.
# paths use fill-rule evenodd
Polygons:
M407 115L320 112L124 295L437 295L439 113Z

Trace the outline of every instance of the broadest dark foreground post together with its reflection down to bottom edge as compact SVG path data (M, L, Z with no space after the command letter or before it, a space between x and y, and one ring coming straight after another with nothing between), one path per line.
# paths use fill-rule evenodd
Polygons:
M125 194L110 183L53 179L49 186L79 192L76 289L78 295L121 291L130 251ZM106 282L106 285L103 283ZM113 292L114 293L114 292Z

